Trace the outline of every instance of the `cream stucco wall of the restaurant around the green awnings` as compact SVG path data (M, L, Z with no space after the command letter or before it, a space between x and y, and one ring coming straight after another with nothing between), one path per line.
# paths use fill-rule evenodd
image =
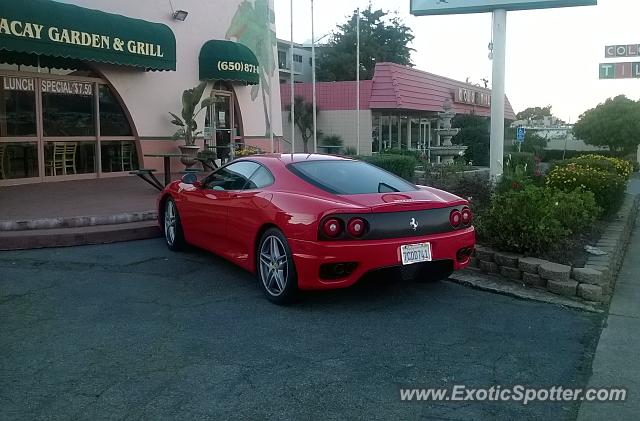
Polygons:
M249 0L253 3L253 0ZM141 137L167 137L175 132L168 112L180 113L182 91L196 86L198 54L202 45L212 39L224 39L241 0L174 0L173 7L189 12L184 22L174 20L168 1L157 0L67 0L82 7L117 13L128 17L163 23L176 37L177 68L175 72L143 72L126 67L98 65L124 100ZM271 0L273 5L273 1ZM275 27L273 28L275 30ZM235 41L235 40L233 40ZM277 62L276 46L273 54ZM271 96L274 134L282 134L278 70L273 72ZM234 84L242 113L244 134L264 137L266 123L262 95L251 100L251 86ZM207 93L205 92L205 95ZM268 100L268 97L267 97ZM267 107L268 109L268 107ZM199 127L204 124L200 115Z

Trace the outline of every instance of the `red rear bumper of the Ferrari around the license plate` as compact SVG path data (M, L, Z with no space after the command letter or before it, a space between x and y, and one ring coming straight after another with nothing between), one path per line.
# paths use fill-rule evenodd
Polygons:
M367 272L402 265L400 246L404 244L429 242L433 260L450 260L454 270L462 269L469 259L458 261L456 254L475 245L475 230L469 227L441 234L371 241L288 241L300 289L332 289L351 286ZM357 266L349 275L333 280L320 277L321 265L350 262Z

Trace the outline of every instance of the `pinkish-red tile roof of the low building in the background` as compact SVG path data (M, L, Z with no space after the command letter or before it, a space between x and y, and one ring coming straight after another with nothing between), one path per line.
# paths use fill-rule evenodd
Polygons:
M458 88L491 93L490 89L399 64L378 63L373 80L360 81L360 108L439 112L442 111L445 99L453 100L453 92ZM311 102L312 89L311 83L296 83L295 95ZM284 110L291 102L291 88L288 83L280 85L280 98ZM355 110L356 82L318 82L316 99L319 110ZM486 117L491 115L489 107L478 105L454 103L453 109L458 114L475 113ZM506 97L505 118L515 120L515 113Z

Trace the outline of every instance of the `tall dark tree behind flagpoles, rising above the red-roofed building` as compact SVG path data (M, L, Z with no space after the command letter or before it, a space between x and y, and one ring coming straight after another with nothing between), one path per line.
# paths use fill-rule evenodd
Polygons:
M356 80L357 11L338 26L327 45L319 50L318 80L331 82ZM411 28L396 16L371 4L360 11L360 78L372 79L376 63L391 62L413 66L408 44L413 40Z

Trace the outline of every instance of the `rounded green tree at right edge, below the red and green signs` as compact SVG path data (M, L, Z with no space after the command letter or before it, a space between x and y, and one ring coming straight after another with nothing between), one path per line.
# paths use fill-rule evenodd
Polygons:
M606 146L621 154L634 153L640 144L640 102L624 95L609 98L580 116L573 135L587 145Z

